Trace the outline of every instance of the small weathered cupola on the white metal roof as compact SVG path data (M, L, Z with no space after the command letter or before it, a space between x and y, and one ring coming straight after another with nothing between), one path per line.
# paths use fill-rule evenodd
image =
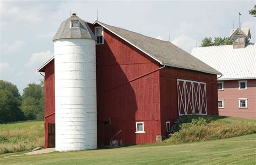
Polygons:
M251 38L250 28L237 28L230 32L230 38L233 40L233 48L245 48Z

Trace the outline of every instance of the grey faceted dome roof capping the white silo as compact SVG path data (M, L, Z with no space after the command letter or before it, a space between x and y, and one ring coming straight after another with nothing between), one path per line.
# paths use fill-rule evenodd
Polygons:
M53 37L53 41L69 38L87 38L96 40L96 37L91 31L88 23L77 17L75 13L62 22L55 34L55 37Z

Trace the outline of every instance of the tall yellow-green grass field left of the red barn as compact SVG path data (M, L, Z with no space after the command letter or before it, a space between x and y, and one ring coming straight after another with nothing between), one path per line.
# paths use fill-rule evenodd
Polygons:
M0 125L0 154L30 150L44 145L44 121Z

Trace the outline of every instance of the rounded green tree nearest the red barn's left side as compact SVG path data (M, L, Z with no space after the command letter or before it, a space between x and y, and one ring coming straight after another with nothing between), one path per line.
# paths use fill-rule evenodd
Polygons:
M28 87L23 89L21 108L26 120L36 119L38 113L41 112L42 95L43 88L39 84L30 83Z

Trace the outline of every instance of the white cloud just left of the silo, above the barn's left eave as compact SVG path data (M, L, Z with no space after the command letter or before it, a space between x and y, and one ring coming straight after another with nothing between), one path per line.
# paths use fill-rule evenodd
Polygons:
M43 64L44 62L50 60L52 56L53 56L53 53L51 51L33 53L30 57L29 62L26 63L26 66L38 67L40 64Z

